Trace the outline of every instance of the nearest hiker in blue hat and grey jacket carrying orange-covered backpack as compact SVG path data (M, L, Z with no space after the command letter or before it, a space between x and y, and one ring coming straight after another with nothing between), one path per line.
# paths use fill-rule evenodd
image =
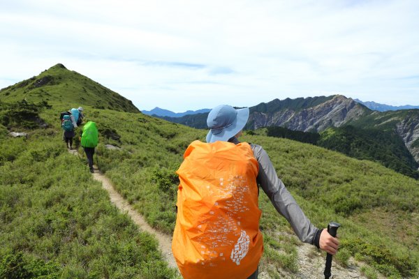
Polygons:
M258 278L263 253L258 185L298 238L335 255L339 240L311 224L257 144L240 142L249 108L208 114L207 143L192 142L177 170L172 252L185 279Z

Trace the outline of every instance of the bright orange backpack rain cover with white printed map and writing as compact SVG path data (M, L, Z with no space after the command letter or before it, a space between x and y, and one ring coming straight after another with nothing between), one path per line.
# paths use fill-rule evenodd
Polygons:
M247 143L192 142L177 170L172 252L185 279L246 279L263 252L258 162Z

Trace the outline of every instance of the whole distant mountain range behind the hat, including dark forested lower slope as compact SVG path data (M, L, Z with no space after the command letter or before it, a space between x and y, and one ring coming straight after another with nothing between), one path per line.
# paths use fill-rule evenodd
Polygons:
M355 152L355 149L359 146L357 147L351 142L353 137L347 136L351 135L351 128L331 130L330 137L332 138L323 139L323 141L327 142L327 146L330 149L332 149L333 144L344 146L345 149L349 147L351 150L346 150L348 154L360 153L362 156L368 154L367 157L358 156L358 158L380 162L385 161L384 165L397 165L393 169L399 172L411 174L411 176L417 175L419 163L419 110L378 112L341 95L296 99L286 98L284 100L275 99L268 103L260 103L249 107L249 110L249 121L247 121L247 126L245 127L247 130L272 126L314 133L346 126L362 129L363 132L357 131L357 142L367 139L369 144L374 145L374 149L383 143L397 146L397 148L391 149L390 153L397 153L401 161L390 164L387 161L394 160L394 158L390 158L390 156L385 154L376 153L377 158L371 158L369 156L370 152ZM194 128L207 128L207 115L208 113L206 112L182 117L159 117ZM376 137L376 141L374 141L374 137ZM367 145L365 144L362 148L368 149ZM339 149L335 150L339 151ZM406 167L409 169L406 169Z

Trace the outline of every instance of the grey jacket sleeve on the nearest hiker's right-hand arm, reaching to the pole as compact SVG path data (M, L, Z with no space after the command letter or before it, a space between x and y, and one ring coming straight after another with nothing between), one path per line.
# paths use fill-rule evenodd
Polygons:
M291 193L284 186L284 183L278 178L277 172L262 146L251 144L251 148L259 164L257 182L260 187L270 198L275 209L291 224L298 238L318 247L318 237L321 230L311 224Z

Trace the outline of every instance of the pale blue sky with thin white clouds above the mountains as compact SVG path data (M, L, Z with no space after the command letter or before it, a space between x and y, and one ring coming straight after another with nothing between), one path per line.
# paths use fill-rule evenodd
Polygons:
M419 105L418 30L417 0L0 0L0 88L62 63L140 110Z

